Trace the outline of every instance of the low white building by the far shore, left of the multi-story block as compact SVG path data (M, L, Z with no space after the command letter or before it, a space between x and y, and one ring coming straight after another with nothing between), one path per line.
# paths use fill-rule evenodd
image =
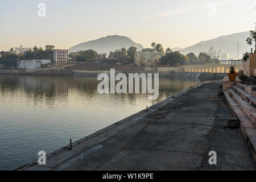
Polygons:
M44 64L51 64L51 60L20 60L19 69L36 69L41 68Z

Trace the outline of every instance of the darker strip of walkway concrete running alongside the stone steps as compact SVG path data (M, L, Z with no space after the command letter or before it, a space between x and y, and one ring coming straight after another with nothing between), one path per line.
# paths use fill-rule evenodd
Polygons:
M217 101L216 121L209 136L209 151L217 152L217 165L210 166L205 156L200 169L204 170L256 170L256 162L240 129L225 129L231 115L224 101Z

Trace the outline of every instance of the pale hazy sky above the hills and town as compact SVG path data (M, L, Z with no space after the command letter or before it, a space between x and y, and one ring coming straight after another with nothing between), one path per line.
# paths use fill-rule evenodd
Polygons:
M38 16L41 2L46 17ZM1 0L0 50L20 44L68 49L107 35L144 47L185 48L254 29L255 7L255 0Z

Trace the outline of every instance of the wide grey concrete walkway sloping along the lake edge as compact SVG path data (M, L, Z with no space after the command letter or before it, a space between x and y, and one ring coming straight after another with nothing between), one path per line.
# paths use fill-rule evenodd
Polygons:
M169 98L96 134L48 155L23 170L255 170L240 129L224 129L229 117L221 82L209 82ZM208 152L217 152L217 165Z

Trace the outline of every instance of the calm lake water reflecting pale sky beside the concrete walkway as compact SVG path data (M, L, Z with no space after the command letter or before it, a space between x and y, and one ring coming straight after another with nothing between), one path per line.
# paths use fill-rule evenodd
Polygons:
M99 94L97 78L0 75L0 170L13 170L199 80L159 78L158 100L148 94Z

